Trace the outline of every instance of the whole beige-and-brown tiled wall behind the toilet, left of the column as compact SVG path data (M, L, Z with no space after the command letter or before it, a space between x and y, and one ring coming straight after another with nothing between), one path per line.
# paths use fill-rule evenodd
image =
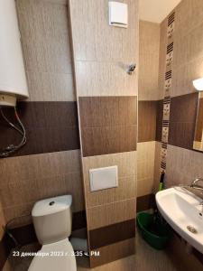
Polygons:
M70 193L73 211L85 210L78 112L73 88L67 5L17 0L30 98L17 105L27 144L0 160L0 198L5 221L31 214L35 201ZM7 111L12 116L11 110ZM0 142L19 142L0 122ZM16 141L15 141L16 140ZM28 216L26 223L31 221ZM15 225L20 226L21 220Z

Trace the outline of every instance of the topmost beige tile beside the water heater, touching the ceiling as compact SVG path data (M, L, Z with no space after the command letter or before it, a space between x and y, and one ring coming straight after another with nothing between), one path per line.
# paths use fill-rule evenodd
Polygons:
M21 33L25 38L61 38L69 36L66 5L43 0L17 0Z

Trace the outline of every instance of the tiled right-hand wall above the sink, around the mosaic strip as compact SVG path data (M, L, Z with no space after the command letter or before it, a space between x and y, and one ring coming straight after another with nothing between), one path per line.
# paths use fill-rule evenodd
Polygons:
M198 92L193 88L192 80L203 76L202 18L201 1L184 0L175 8L167 186L189 184L203 176L203 154L192 150L198 106ZM161 55L164 55L166 20L161 23L161 30ZM162 88L163 70L160 76Z

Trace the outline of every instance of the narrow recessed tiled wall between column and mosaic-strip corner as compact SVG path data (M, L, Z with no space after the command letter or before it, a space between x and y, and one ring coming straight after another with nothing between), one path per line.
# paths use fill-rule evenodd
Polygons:
M159 179L156 141L161 140L162 101L159 88L160 24L140 21L138 103L138 210L149 208ZM156 156L155 156L156 154ZM156 159L155 159L156 158Z

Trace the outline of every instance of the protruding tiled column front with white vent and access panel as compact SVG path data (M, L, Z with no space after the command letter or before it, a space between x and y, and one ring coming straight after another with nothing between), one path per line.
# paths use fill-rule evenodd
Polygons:
M69 1L78 96L90 265L134 254L136 213L137 2L127 29L108 25L108 1ZM87 39L88 37L88 39ZM85 116L85 117L84 117ZM118 188L90 192L88 170L118 166Z

